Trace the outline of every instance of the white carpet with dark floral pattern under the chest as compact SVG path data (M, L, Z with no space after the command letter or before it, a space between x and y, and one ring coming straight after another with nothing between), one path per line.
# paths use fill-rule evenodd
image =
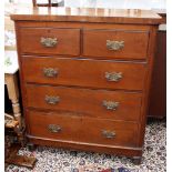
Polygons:
M38 146L32 153L27 148L19 151L19 154L36 155L38 162L33 170L9 165L6 172L100 172L105 169L113 169L113 172L165 172L165 121L153 120L148 123L141 165L133 165L131 160L124 156Z

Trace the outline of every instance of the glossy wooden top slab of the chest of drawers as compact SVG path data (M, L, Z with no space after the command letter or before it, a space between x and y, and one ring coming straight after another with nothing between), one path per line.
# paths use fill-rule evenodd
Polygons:
M20 8L11 14L20 21L68 21L159 24L161 17L151 10L101 8Z

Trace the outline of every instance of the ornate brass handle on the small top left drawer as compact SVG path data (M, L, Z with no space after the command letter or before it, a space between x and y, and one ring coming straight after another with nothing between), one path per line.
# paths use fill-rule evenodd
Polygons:
M45 48L53 48L58 44L57 38L43 38L41 37L40 43Z

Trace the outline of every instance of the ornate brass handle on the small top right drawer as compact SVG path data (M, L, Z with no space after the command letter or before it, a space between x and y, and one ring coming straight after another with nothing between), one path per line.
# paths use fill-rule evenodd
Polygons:
M124 41L111 41L107 40L107 49L118 51L124 48Z

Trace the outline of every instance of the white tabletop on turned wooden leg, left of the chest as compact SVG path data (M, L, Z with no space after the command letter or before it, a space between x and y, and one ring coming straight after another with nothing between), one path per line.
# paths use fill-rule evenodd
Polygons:
M17 51L4 51L4 73L13 74L19 70Z

